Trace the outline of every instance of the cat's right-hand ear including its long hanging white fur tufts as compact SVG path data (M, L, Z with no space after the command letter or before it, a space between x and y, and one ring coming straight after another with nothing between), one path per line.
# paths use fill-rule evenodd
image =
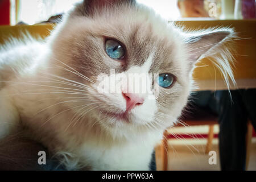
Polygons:
M230 79L235 84L232 71L234 60L232 40L236 37L232 28L206 30L185 35L191 70L198 60L209 57L224 76L226 84L229 85Z

